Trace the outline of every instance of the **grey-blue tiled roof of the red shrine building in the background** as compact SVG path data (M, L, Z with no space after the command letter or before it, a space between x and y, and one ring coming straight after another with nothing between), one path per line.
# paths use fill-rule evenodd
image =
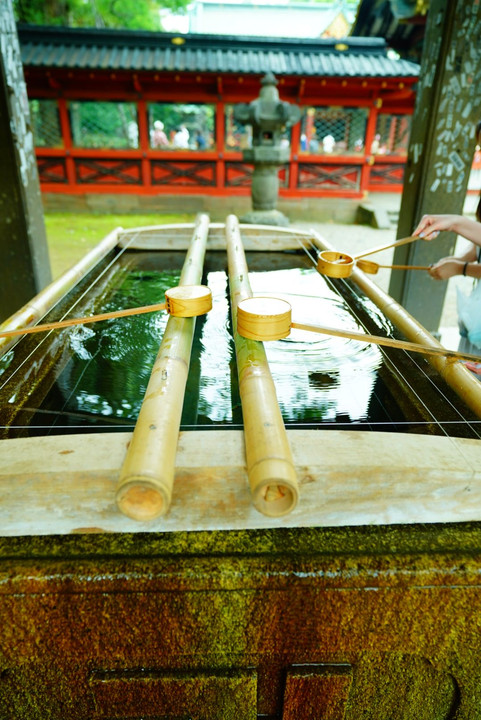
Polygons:
M403 77L416 63L393 58L382 38L292 39L179 35L19 25L28 67L276 76Z

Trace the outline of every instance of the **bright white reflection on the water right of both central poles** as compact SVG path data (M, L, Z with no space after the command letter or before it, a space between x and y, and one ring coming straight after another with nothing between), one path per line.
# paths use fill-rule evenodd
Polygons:
M316 270L294 268L252 273L255 295L287 300L292 321L361 331L339 295ZM368 418L369 400L382 356L375 345L292 330L284 340L265 343L282 414L288 423L347 422ZM334 377L313 383L313 374Z

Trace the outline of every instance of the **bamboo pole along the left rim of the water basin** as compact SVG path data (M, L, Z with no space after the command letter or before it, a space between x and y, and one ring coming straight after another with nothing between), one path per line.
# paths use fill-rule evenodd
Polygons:
M57 280L50 283L50 285L47 285L38 295L0 325L0 331L2 332L0 339L0 357L16 342L15 336L22 334L15 333L14 335L13 331L31 327L34 323L38 322L78 280L83 278L87 272L117 246L121 232L121 227L112 230L98 245L79 260L78 263L63 273ZM6 333L9 334L7 335Z

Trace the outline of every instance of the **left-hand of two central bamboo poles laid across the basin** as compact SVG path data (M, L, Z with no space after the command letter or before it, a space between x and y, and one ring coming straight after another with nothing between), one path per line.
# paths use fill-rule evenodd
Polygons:
M208 216L200 215L179 285L200 283L208 230ZM170 506L194 329L195 318L169 316L117 487L119 509L134 520L152 520Z

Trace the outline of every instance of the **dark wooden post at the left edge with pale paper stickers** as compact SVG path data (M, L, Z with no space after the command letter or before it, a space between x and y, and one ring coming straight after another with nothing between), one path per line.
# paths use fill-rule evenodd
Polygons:
M37 162L11 0L0 3L0 321L50 282Z

